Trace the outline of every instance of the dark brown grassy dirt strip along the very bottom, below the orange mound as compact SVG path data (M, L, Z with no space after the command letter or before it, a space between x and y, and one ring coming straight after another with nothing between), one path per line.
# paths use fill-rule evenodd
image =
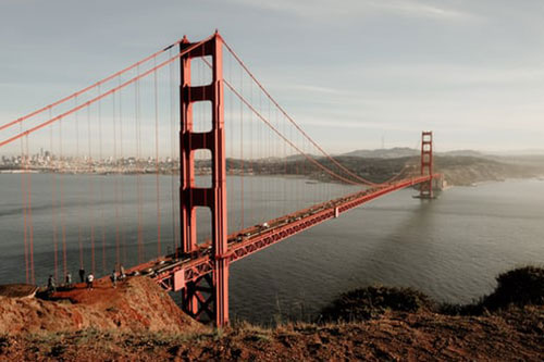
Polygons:
M346 324L243 324L215 332L26 334L0 359L65 361L543 361L544 309L484 317L391 313Z

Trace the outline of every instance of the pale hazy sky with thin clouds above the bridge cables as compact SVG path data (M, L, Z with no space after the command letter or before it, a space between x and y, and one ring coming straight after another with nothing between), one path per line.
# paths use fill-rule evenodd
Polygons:
M542 0L0 0L0 123L215 28L331 152L544 148Z

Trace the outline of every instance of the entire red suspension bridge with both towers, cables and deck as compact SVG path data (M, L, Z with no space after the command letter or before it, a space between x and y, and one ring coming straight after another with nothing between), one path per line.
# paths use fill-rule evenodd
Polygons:
M431 132L418 165L372 180L349 170L219 33L184 37L0 125L0 137L20 178L10 237L24 249L26 283L38 264L55 278L126 265L218 326L228 323L231 263L403 188L431 199L441 177Z

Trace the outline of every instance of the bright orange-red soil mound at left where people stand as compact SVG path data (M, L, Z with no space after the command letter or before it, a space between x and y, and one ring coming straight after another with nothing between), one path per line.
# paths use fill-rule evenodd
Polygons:
M180 333L202 328L147 277L118 283L100 279L92 289L84 284L57 292L55 301L0 296L0 334L101 330Z

